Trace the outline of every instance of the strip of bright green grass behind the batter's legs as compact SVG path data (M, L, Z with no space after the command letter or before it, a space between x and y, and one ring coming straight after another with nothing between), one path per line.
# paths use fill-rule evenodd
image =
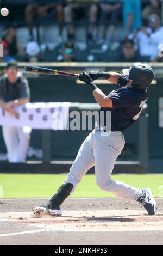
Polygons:
M51 197L65 180L65 174L0 174L4 198ZM134 187L149 187L155 197L163 197L163 175L112 175L112 179ZM0 195L1 196L1 195ZM100 190L95 175L85 175L72 197L114 197Z

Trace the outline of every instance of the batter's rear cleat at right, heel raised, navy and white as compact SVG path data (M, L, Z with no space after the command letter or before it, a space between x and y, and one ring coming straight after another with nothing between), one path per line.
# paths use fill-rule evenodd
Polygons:
M147 210L149 215L154 215L156 212L156 202L154 200L152 191L148 188L142 189L142 196L137 199L144 208Z

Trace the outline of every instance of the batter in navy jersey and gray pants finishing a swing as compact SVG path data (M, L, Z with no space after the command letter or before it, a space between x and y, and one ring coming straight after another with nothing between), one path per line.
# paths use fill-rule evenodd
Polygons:
M90 71L79 74L79 80L92 89L93 96L101 106L100 112L111 112L111 131L106 131L106 120L95 125L95 129L87 136L81 145L67 178L57 193L48 203L33 208L35 217L42 214L60 216L60 205L75 190L86 172L95 166L96 183L104 191L116 194L118 197L140 202L149 215L154 215L156 202L149 188L135 188L123 182L112 180L111 173L117 156L121 154L125 141L123 130L132 125L142 111L148 99L148 86L154 78L151 66L144 63L134 63L129 69L123 69L123 74L116 72ZM106 96L94 80L105 78L120 88ZM108 134L107 134L108 133ZM106 135L106 136L105 136Z

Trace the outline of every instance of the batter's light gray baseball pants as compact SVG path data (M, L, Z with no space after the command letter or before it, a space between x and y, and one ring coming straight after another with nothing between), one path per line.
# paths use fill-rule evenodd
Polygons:
M73 184L73 191L82 180L84 174L95 166L96 183L104 191L118 197L136 200L142 195L140 188L134 188L120 181L111 179L111 173L117 156L124 147L124 136L121 132L105 132L93 130L81 145L65 183Z

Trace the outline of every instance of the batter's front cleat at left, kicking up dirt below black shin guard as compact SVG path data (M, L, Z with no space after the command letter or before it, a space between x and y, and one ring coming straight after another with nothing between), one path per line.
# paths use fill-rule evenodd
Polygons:
M32 210L33 210L33 217L35 218L46 217L46 215L52 215L52 216L62 215L62 212L59 206L56 206L55 209L50 209L49 203L42 204L40 206L35 206Z

